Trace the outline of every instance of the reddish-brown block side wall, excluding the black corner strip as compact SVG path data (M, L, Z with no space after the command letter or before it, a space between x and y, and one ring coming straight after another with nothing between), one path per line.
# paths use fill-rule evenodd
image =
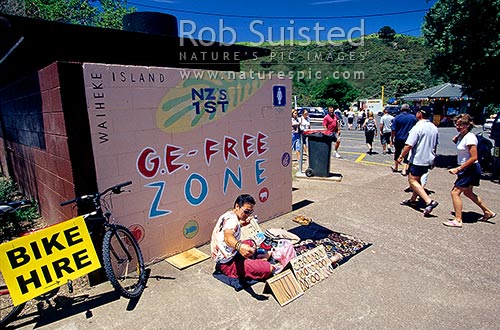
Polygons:
M76 215L73 208L59 206L75 196L61 68L65 64L53 63L0 91L2 169L9 167L22 192L39 202L49 224Z

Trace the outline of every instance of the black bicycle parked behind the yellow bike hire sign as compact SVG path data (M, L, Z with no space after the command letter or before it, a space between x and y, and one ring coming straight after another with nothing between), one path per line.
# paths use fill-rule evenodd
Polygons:
M67 200L60 205L76 204L81 209L90 207L91 212L83 217L91 234L104 229L102 263L106 277L119 295L133 299L138 298L146 287L147 273L142 252L139 243L127 227L111 222L111 196L125 192L122 188L130 184L132 184L132 181L120 183L105 189L103 192ZM15 212L19 207L25 205L20 204L20 202L15 203L8 207L0 205L0 215L4 212ZM71 281L67 285L69 292L72 292ZM48 293L49 297L53 296L54 292L57 292L57 288ZM0 303L0 327L5 326L17 317L26 305L26 303L21 303L14 306L1 273Z

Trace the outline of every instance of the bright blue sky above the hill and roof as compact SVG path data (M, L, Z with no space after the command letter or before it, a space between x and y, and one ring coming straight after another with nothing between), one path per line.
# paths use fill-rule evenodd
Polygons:
M326 40L329 31L335 36L344 33L359 37L361 31L376 33L385 25L396 33L420 36L426 10L436 1L131 0L128 3L138 11L176 16L179 32L184 36L227 43L259 43L291 38Z

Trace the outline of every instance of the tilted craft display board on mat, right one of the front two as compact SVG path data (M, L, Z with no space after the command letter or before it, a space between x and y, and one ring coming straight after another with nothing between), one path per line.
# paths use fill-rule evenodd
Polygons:
M325 247L319 245L290 260L295 277L302 290L306 291L333 273L333 266Z

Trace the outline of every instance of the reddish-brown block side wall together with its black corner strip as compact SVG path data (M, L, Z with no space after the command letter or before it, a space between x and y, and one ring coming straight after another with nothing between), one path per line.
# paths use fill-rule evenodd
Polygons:
M23 193L39 202L50 224L76 215L59 203L79 193L79 182L82 193L95 187L88 180L92 154L82 147L89 134L82 86L80 64L52 63L0 91L2 170L7 167ZM82 175L75 179L74 172Z

